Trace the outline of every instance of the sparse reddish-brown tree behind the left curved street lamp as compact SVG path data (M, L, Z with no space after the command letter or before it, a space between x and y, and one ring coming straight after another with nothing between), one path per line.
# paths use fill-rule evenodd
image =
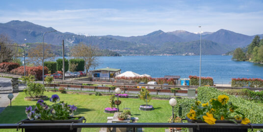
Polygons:
M31 48L28 50L28 62L34 64L35 66L42 65L43 60L43 45L37 45L36 48ZM53 59L54 54L51 50L51 46L44 44L44 60L47 58Z

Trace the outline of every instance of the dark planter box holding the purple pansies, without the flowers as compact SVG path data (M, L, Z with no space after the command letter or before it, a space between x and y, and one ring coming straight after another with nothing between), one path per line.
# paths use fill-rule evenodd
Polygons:
M76 118L76 117L73 117ZM21 121L22 123L26 124L26 123L82 123L82 121L85 120L84 117L79 117L78 120L23 120ZM86 122L86 121L85 121ZM70 130L70 128L39 128L39 129L25 129L25 132L81 132L81 128L75 128L73 130Z

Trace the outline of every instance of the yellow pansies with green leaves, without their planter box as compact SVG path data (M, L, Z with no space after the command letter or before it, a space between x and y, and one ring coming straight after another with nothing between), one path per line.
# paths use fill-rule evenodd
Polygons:
M210 99L205 104L196 101L195 106L192 106L190 112L187 113L187 117L191 120L205 121L210 125L215 124L216 120L230 120L237 123L235 119L241 120L241 124L250 123L243 113L236 111L237 106L228 101L229 97L227 95L219 95L217 99ZM236 116L231 117L234 113L236 113Z

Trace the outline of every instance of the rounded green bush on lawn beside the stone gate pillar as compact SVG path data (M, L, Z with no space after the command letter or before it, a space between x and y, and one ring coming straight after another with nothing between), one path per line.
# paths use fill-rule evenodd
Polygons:
M27 86L26 89L24 89L24 92L31 98L39 98L42 97L45 92L45 85L41 83L27 82Z

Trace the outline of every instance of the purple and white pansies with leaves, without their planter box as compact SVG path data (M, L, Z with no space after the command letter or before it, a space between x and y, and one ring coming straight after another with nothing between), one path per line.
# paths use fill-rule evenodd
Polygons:
M74 111L77 110L77 106L68 105L64 101L60 101L58 95L54 94L50 98L50 102L53 102L52 106L47 105L43 100L38 100L35 108L32 110L32 106L26 107L26 114L29 120L67 120L74 116ZM58 103L57 103L58 102Z

